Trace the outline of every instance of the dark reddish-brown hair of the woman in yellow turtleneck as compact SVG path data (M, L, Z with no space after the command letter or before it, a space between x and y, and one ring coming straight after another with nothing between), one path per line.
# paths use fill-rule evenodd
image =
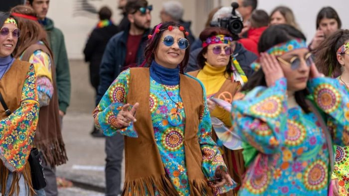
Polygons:
M229 37L232 37L231 33L224 29L219 27L207 27L205 28L199 36L199 39L204 42L208 37L214 36L214 35L226 35ZM204 54L207 53L207 47L202 48L202 50L197 55L197 64L200 67L200 69L203 69L205 66L206 59L203 57ZM231 58L229 57L229 62L226 66L225 72L230 75L233 71L231 69Z

